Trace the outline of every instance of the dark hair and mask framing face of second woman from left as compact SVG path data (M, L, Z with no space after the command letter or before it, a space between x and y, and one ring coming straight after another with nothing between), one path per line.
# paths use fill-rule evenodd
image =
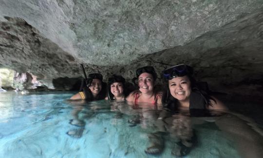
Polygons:
M126 90L127 88L125 88L125 78L123 78L121 75L115 75L113 74L109 80L108 80L108 88L107 88L107 93L108 93L108 99L109 100L114 100L114 95L113 93L111 92L111 85L115 82L118 82L118 83L122 83L122 87L123 87L123 95L124 97L127 97L127 93L128 91Z

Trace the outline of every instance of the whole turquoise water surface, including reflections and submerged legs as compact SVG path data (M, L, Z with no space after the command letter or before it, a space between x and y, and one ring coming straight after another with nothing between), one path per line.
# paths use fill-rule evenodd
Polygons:
M149 104L69 102L71 95L1 93L0 158L262 156L262 130L238 115L190 117Z

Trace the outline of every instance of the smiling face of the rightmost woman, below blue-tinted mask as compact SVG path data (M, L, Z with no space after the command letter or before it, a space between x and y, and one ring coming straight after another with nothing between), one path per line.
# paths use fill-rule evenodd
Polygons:
M175 77L169 80L169 89L171 95L179 102L189 101L191 84L188 76Z

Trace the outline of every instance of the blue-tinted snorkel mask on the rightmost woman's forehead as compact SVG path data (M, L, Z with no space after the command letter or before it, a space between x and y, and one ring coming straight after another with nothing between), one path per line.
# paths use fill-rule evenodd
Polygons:
M185 75L192 75L193 73L193 68L185 65L185 64L180 64L180 65L175 65L173 67L170 67L166 70L164 70L164 78L171 80L175 77L183 77Z

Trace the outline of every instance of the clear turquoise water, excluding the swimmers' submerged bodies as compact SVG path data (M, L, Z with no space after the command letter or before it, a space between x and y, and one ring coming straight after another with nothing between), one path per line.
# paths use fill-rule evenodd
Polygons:
M78 116L85 121L80 138L66 133L79 130L70 124L73 93L0 93L0 158L174 158L173 141L163 134L164 151L152 156L149 147L153 133L151 118L131 126L128 120L138 111L126 103L93 102ZM124 113L113 110L118 107ZM145 116L147 118L147 116ZM197 121L198 122L198 121ZM153 127L152 127L153 126ZM239 158L237 142L229 139L209 121L193 126L197 143L186 158Z

